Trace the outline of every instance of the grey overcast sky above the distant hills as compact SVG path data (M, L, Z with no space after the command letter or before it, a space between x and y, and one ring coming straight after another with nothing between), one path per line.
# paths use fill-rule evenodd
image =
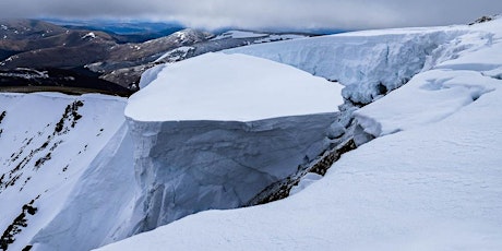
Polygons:
M0 0L0 17L146 19L210 29L429 26L499 13L501 0Z

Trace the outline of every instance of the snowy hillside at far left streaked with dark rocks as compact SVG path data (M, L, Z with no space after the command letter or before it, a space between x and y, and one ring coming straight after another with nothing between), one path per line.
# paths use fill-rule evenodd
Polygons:
M0 249L22 250L71 200L124 122L124 105L105 95L0 94Z

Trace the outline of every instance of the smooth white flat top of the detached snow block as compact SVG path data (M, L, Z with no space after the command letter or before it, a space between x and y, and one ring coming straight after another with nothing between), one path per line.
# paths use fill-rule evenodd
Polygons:
M206 53L167 65L129 99L136 121L260 119L337 111L342 86L246 55Z

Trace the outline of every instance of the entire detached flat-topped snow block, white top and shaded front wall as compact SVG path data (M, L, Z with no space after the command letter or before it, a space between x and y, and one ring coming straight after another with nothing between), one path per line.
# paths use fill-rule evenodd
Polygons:
M241 55L165 67L125 109L141 188L133 234L204 210L242 206L322 154L339 91L336 83Z

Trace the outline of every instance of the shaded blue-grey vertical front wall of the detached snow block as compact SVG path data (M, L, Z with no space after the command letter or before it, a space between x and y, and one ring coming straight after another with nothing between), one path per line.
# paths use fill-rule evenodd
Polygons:
M252 122L130 121L144 215L135 231L242 206L323 150L333 113Z

